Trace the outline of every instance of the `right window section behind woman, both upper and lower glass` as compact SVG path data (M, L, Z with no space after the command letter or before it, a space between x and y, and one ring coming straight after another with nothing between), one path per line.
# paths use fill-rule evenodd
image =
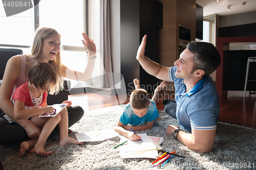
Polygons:
M88 55L81 42L82 33L86 32L84 9L84 0L44 0L39 3L39 27L54 28L61 35L61 63L77 71L84 71ZM81 87L75 80L70 82L72 88Z

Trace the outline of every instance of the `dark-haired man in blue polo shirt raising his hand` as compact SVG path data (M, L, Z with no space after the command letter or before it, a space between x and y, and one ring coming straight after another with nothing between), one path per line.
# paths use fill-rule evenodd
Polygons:
M207 42L190 42L175 61L175 66L165 67L144 55L145 45L146 35L139 46L137 60L148 74L174 82L175 101L165 101L164 110L177 118L179 125L191 131L185 133L170 125L167 134L191 150L210 152L216 136L220 102L215 83L209 75L220 65L218 50Z

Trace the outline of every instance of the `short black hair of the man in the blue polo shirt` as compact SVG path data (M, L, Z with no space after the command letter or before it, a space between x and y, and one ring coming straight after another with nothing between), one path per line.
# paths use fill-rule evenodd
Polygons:
M187 44L187 49L195 55L191 74L198 69L202 69L204 70L203 78L205 78L221 64L221 56L214 44L192 41Z

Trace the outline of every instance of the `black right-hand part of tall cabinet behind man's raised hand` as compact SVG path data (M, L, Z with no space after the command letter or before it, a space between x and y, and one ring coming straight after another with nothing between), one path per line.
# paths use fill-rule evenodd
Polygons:
M156 0L140 0L140 41L147 35L145 56L155 62L157 57L157 29L163 28L163 4ZM152 88L157 85L158 79L148 74L140 66L140 84L147 87L145 90L154 91ZM155 86L154 86L155 87Z

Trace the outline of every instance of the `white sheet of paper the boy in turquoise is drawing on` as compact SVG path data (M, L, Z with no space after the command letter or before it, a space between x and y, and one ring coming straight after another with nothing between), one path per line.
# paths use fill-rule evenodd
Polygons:
M127 137L119 136L120 143L127 140L127 142L121 145L117 151L118 152L139 152L139 151L149 151L149 150L157 150L156 145L150 140L150 138L146 135L146 133L139 134L141 136L141 140L132 141Z

